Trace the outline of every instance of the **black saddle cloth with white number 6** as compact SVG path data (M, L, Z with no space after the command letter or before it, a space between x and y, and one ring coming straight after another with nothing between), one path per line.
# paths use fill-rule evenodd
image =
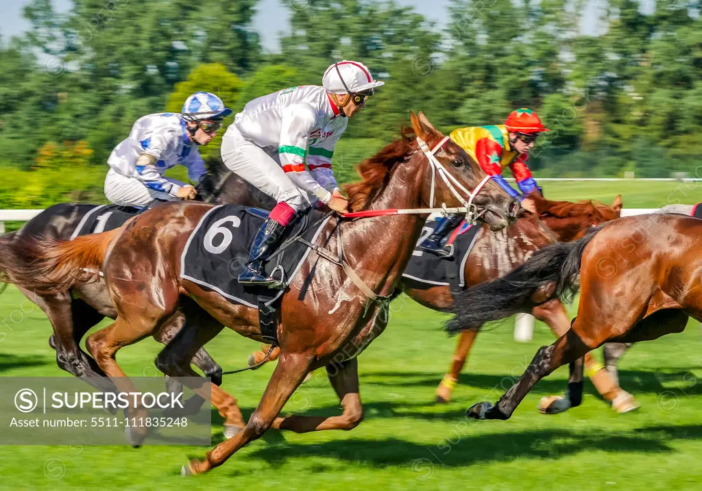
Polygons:
M209 210L185 244L180 257L180 277L216 291L230 302L249 307L258 307L260 297L270 297L270 302L276 300L282 291L244 286L237 281L241 268L249 260L253 236L267 216L265 210L239 205L220 205ZM298 220L293 230L281 239L278 250L282 253L265 264L268 274L286 285L291 283L312 251L290 238L301 233L302 238L314 243L330 218L322 220L323 216L324 213L312 210ZM315 223L317 225L310 228Z

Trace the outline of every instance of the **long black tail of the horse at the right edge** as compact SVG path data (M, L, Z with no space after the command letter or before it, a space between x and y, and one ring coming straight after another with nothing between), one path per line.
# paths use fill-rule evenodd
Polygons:
M593 227L574 242L548 245L502 278L454 294L456 315L446 324L446 330L451 334L479 330L488 321L529 312L555 297L571 301L580 287L578 275L583 251L600 229L602 226Z

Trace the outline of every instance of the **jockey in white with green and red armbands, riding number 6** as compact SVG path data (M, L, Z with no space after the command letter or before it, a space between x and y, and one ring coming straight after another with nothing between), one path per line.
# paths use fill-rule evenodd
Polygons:
M347 211L331 156L347 121L385 82L373 79L362 63L345 60L331 65L322 83L252 100L224 135L226 166L277 201L253 239L249 262L239 274L241 283L284 288L265 274L263 263L298 212L316 201L338 213Z

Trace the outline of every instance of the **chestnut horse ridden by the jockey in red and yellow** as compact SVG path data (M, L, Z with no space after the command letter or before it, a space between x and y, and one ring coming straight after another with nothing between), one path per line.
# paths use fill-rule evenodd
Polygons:
M475 246L465 263L465 281L469 287L507 274L539 248L555 241L573 241L585 234L592 225L618 218L622 206L621 196L614 199L611 207L595 201L549 201L539 194L534 194L531 198L536 202L541 221L535 220L529 213L523 213L515 224L503 231L494 233L485 227L479 231ZM446 285L418 289L412 288L406 281L401 281L399 288L413 300L430 309L449 312L453 308L453 295ZM570 318L558 300L534 307L531 313L547 323L557 336L570 327ZM458 374L465 365L476 336L477 330L461 332L449 373L437 388L437 402L447 403L451 399L451 392L458 382ZM249 365L263 363L266 356L269 361L278 357L278 349L270 351L270 355L269 351L270 345L264 344L260 351L251 354ZM614 410L628 412L638 407L633 396L623 391L616 380L590 354L585 355L585 367L592 384L604 399L612 404ZM539 409L550 414L562 412L568 409L566 401L560 396L546 397Z

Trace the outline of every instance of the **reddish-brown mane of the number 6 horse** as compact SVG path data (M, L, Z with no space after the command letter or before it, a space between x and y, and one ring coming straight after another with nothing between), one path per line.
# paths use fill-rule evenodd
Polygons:
M403 126L397 140L358 164L356 170L362 181L344 186L349 196L349 208L352 211L359 211L369 206L373 196L385 188L390 177L390 170L397 163L407 159L408 154L413 150L414 141L414 130L409 126Z

